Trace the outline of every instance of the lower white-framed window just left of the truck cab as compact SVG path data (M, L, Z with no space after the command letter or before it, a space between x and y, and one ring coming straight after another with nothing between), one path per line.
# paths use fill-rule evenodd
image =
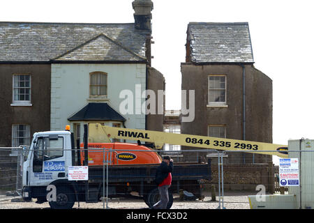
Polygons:
M30 146L30 125L17 124L12 127L12 146Z

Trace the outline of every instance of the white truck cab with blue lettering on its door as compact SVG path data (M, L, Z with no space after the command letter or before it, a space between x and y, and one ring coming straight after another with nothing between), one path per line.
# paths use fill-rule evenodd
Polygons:
M71 134L69 131L36 132L23 164L25 200L46 201L47 185L67 180L68 166L72 165Z

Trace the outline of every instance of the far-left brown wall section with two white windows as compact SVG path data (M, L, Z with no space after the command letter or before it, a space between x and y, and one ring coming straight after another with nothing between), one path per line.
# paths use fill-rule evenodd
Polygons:
M50 130L50 64L0 63L0 147Z

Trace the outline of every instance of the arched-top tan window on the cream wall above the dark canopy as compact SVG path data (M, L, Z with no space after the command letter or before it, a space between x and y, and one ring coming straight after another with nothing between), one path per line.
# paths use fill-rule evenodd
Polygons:
M91 97L107 96L107 73L91 72L89 95Z

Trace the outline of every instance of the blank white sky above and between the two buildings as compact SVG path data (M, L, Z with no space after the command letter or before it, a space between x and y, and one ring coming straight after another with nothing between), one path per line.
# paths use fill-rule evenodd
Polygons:
M130 23L132 1L1 1L0 21ZM274 144L314 139L311 1L153 1L152 66L165 77L166 109L181 108L188 22L248 22L255 68L273 80Z

